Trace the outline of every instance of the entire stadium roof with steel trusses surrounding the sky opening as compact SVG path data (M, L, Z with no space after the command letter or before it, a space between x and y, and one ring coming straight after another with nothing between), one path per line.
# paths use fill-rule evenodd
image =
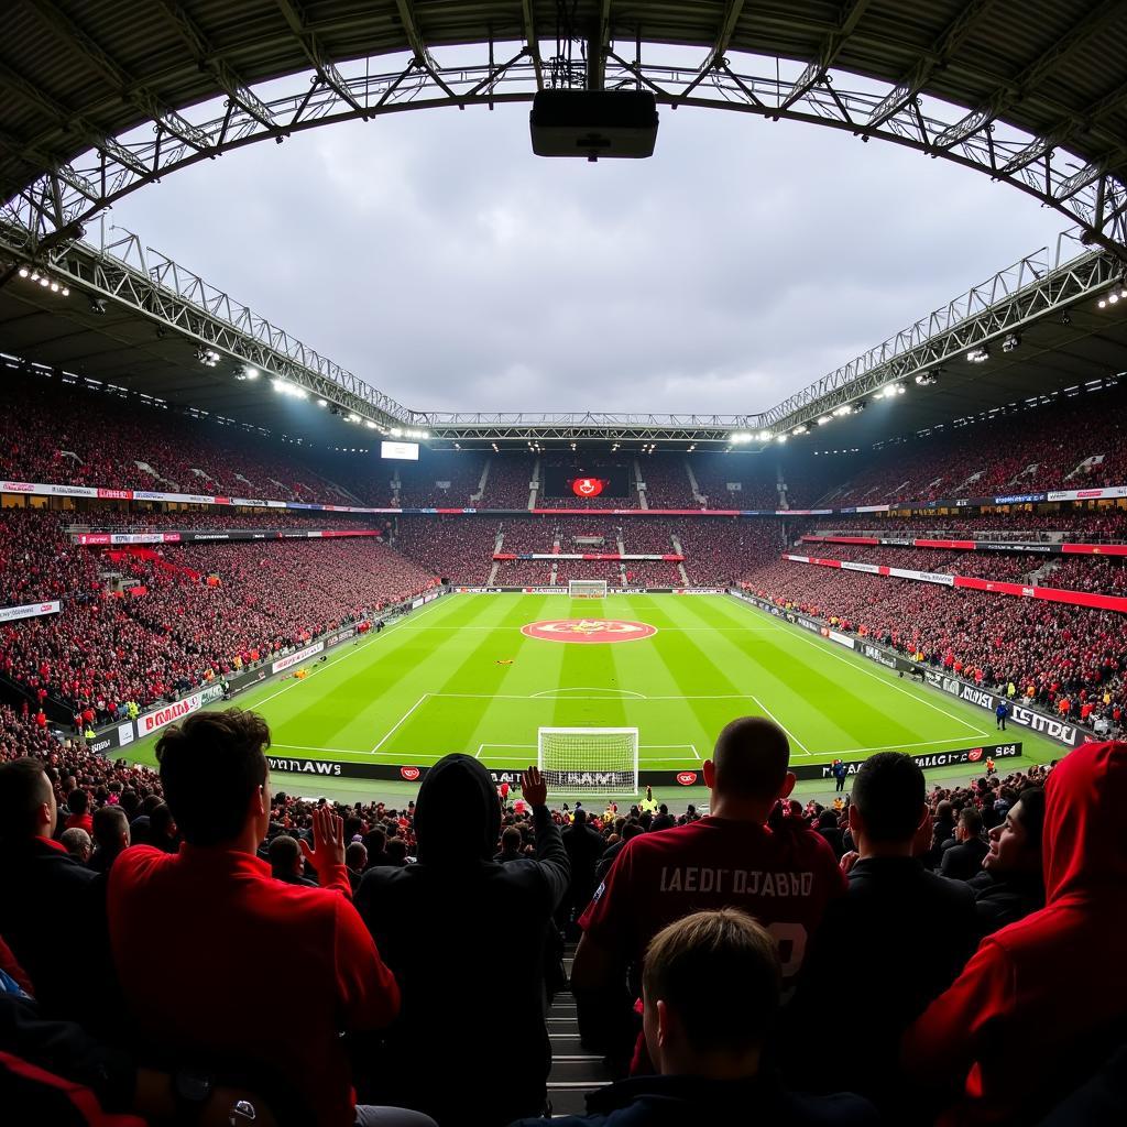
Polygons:
M260 384L232 385L229 369L185 366L186 343L214 339L225 295L202 301L205 290L216 292L195 279L199 292L179 292L174 309L160 286L145 295L135 277L118 285L122 272L91 266L72 246L81 223L177 167L257 140L384 112L526 100L576 79L571 41L583 43L575 57L589 61L578 79L591 86L638 85L663 105L791 117L911 145L1033 194L1109 254L1079 268L1046 255L1015 284L977 287L965 309L952 303L946 322L924 319L760 416L598 424L589 416L420 416L281 330L267 327L264 344L249 311L240 323L229 302L228 328L215 340L224 360L261 355L266 369L381 426L431 426L450 441L582 432L719 442L740 426L778 433L816 423L897 371L908 379L933 371L1002 330L1021 337L973 380L965 361L951 360L935 385L887 411L878 403L838 420L840 443L921 429L1121 364L1121 319L1092 312L1099 287L1118 274L1115 256L1127 255L1127 5L1119 0L14 0L0 39L0 250L7 245L15 265L50 264L109 303L96 314L73 300L51 308L53 295L0 289L3 347L86 374L116 373L118 382L126 372L154 393L223 414L254 411L269 429L286 431L300 405L283 410L254 390ZM686 65L692 52L696 62ZM172 275L156 281L167 287L171 277L183 291ZM50 313L36 313L37 304ZM1062 323L1065 313L1071 325ZM950 353L934 348L937 332L947 334Z

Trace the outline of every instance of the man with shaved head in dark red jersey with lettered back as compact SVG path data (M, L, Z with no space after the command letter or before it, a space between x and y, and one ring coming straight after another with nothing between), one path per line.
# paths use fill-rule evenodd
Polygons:
M619 853L579 920L584 934L571 974L579 1030L593 1050L616 1057L628 1047L621 1042L632 1039L630 1003L646 947L666 924L696 909L739 907L765 924L784 947L783 984L793 987L808 937L845 879L833 851L801 818L766 824L793 789L789 761L790 745L777 724L733 720L702 764L711 814L641 834ZM786 895L778 895L779 880Z

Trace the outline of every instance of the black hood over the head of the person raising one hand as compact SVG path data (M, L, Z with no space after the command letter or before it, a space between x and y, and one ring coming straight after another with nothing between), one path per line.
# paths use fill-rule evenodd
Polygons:
M419 861L465 866L492 860L499 833L500 802L485 765L460 752L444 755L419 788L415 810Z

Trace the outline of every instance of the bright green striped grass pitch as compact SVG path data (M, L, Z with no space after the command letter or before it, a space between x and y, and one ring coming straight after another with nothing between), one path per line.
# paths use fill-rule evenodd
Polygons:
M657 632L603 645L521 632L566 618L638 621ZM237 699L267 718L279 756L426 765L465 752L513 769L535 762L539 727L637 727L641 769L678 771L708 758L724 725L746 715L782 725L796 764L1006 738L1024 748L1021 758L1000 762L1003 772L1062 754L1024 729L1011 726L1003 736L990 713L727 595L452 595L308 668L303 681L274 680ZM131 757L152 763L153 744L135 745ZM970 773L946 767L928 778ZM275 786L307 792L294 786L302 778L279 775ZM320 779L305 782L325 792ZM406 787L353 781L347 797L401 795ZM693 799L682 788L666 793Z

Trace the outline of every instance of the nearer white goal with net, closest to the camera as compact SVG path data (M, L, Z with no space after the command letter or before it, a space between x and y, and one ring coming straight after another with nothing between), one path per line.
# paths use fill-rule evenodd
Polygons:
M540 728L536 763L549 790L638 793L637 728Z

